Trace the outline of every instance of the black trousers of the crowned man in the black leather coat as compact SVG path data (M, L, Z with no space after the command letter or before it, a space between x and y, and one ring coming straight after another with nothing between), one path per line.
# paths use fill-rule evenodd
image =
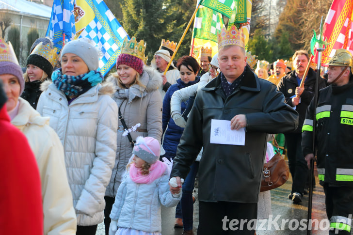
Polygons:
M199 202L200 235L254 235L257 203Z

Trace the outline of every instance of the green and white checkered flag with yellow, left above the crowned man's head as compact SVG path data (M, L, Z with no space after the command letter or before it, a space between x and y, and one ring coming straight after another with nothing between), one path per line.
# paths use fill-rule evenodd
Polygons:
M221 32L222 27L222 16L218 12L200 6L195 16L193 37L217 43L217 34Z

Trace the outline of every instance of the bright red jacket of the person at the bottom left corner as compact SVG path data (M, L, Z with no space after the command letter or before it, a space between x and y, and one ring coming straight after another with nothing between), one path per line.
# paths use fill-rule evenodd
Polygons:
M26 137L0 109L0 234L42 235L43 208L37 162Z

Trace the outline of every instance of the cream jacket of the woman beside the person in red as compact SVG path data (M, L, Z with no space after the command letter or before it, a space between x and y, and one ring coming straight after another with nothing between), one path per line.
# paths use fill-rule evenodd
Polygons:
M63 145L49 126L21 97L16 117L11 121L27 137L40 172L44 235L75 235L76 215L66 179ZM24 199L25 200L25 199Z

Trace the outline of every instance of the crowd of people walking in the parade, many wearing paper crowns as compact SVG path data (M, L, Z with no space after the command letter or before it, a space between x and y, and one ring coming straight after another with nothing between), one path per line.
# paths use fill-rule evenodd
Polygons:
M295 204L307 193L317 136L327 216L340 234L350 233L353 58L347 50L337 50L328 79L319 79L315 107L317 74L305 50L294 53L292 67L259 60L254 69L235 26L222 29L213 57L201 47L200 58L171 62L176 43L163 39L148 66L145 47L125 38L117 71L104 79L100 51L89 39L66 43L58 56L48 38L39 38L26 68L1 39L1 234L95 235L104 221L106 235L160 235L163 205L176 206L175 227L193 235L198 177L197 233L254 235L246 224L272 213L270 191L259 192L263 163L273 156L269 134L284 135ZM244 129L245 143L212 142L212 120ZM29 219L21 226L14 223L23 217ZM227 231L224 218L247 222L242 231Z

